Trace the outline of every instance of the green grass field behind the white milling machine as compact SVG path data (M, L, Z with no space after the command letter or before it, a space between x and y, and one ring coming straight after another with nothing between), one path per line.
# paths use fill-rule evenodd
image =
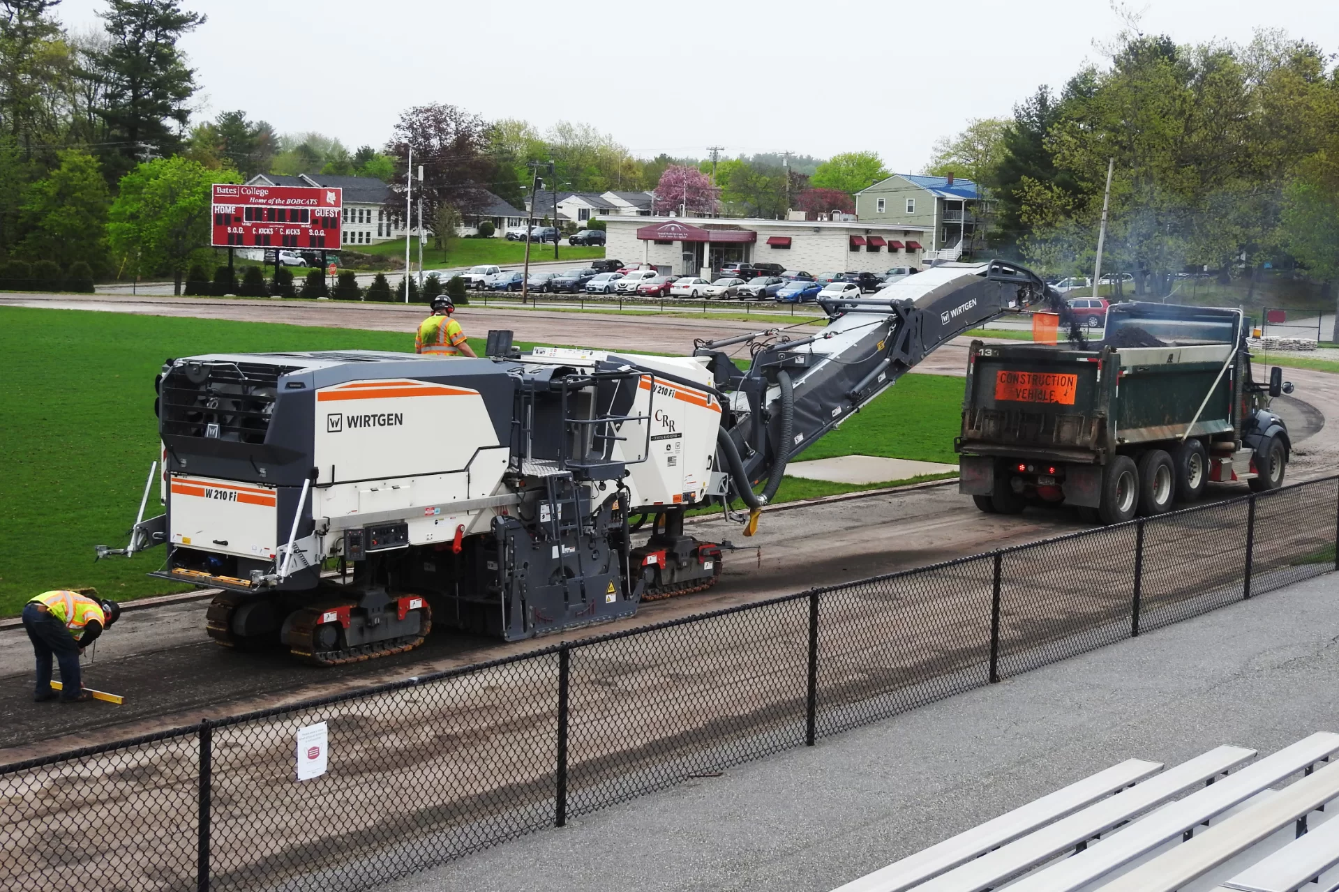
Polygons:
M471 339L482 352L482 343ZM115 599L182 591L145 573L161 549L92 560L122 546L157 457L154 375L169 356L283 350L396 350L408 336L270 323L0 309L0 615L50 588L95 585ZM961 379L908 375L803 458L849 453L953 461ZM779 500L868 489L787 478ZM158 513L157 489L147 516Z

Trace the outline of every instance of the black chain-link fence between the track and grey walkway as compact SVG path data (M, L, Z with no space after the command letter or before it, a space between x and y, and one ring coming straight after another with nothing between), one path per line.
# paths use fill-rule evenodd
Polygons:
M0 888L366 889L1339 569L1336 541L1327 478L0 766Z

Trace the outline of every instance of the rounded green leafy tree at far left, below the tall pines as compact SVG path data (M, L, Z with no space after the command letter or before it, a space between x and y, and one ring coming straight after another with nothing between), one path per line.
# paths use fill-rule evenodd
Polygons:
M23 204L27 236L19 250L62 267L82 260L102 269L110 201L98 159L75 149L62 151L60 166L28 189Z

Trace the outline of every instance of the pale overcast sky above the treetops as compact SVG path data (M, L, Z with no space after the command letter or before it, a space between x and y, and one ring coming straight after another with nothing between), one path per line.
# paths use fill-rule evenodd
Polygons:
M1106 0L182 0L200 114L380 147L403 108L595 125L635 155L870 149L919 170L969 118L1060 86L1122 28ZM1178 43L1281 28L1339 50L1335 0L1156 0ZM71 28L103 0L64 0Z

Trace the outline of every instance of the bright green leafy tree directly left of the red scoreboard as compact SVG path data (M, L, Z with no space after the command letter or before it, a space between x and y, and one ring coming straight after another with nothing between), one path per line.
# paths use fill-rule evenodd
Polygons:
M210 241L216 182L241 182L241 177L181 157L143 162L122 177L107 225L122 265L170 272L173 293L179 295L191 252Z

